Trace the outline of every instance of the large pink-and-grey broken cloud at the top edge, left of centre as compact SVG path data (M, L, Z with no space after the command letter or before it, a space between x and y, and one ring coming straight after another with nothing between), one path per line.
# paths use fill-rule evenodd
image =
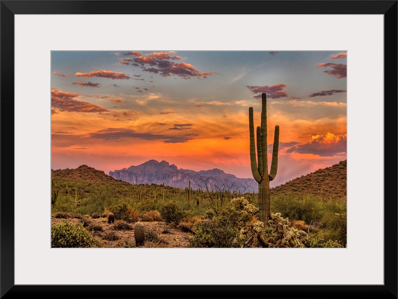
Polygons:
M209 75L218 74L216 72L200 72L189 63L179 62L183 60L180 56L173 56L175 52L153 52L142 56L141 52L127 52L125 55L134 58L120 58L123 64L130 64L142 68L144 72L158 74L163 77L177 76L184 79L192 77L207 78Z

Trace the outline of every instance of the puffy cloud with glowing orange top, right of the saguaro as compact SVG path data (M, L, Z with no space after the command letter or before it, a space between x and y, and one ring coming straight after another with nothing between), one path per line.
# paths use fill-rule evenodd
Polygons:
M347 152L347 136L337 136L332 133L312 136L306 144L296 144L286 153L314 154L321 157L333 157Z

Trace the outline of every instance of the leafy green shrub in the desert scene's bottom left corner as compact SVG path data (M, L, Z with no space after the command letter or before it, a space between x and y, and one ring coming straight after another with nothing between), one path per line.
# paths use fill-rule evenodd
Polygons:
M51 226L51 247L97 247L99 242L84 228L83 223L74 226L66 220Z

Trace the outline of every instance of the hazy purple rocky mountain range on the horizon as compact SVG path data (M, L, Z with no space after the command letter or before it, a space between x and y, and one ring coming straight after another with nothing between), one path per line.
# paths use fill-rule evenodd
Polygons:
M116 180L122 180L131 184L165 184L167 186L181 188L190 186L196 190L206 186L211 189L240 190L243 193L257 192L258 184L254 179L237 178L226 174L223 170L213 168L198 172L190 169L178 168L167 161L158 162L149 160L143 164L130 166L120 170L109 172L109 176Z

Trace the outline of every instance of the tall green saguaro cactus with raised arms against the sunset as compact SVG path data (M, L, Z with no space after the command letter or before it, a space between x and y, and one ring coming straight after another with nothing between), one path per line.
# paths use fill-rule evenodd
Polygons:
M258 183L258 208L260 221L268 226L270 219L269 182L276 176L278 167L279 126L275 125L271 170L268 174L267 156L267 95L262 94L261 126L257 126L257 144L254 139L253 107L249 108L250 165L254 180ZM256 157L257 145L257 157ZM258 164L257 164L258 160Z

